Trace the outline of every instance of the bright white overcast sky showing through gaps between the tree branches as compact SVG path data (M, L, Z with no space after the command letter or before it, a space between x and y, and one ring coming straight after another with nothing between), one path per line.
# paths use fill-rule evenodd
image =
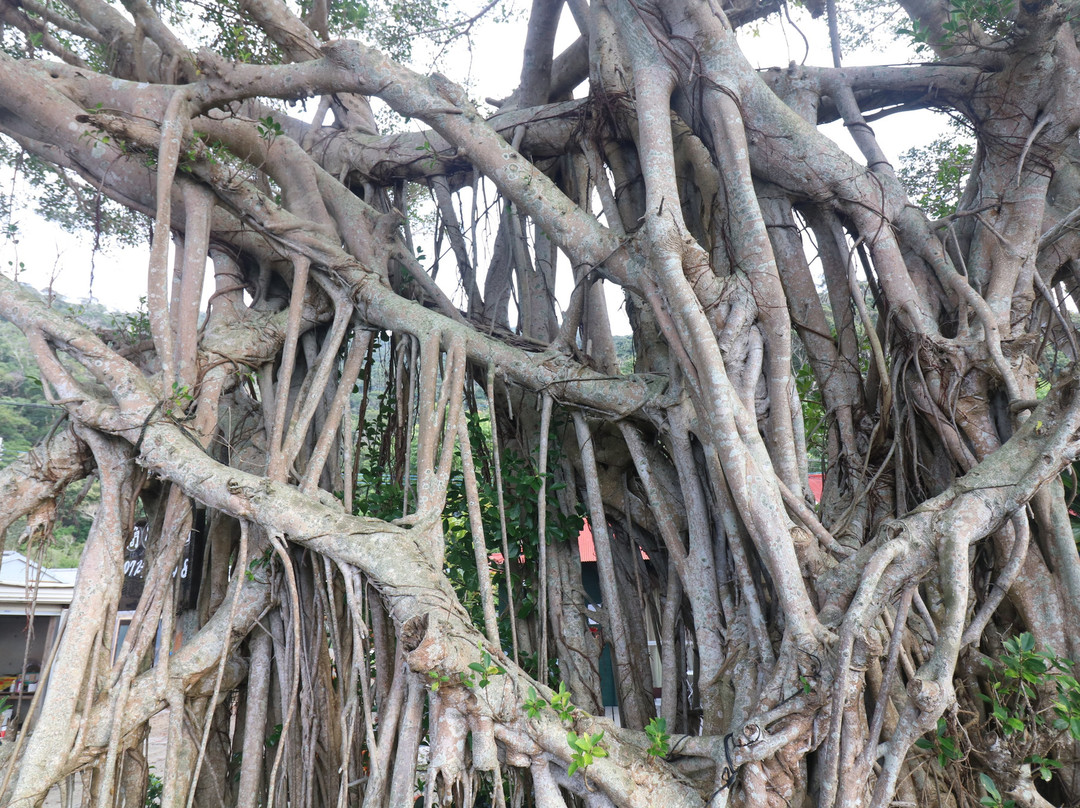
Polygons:
M516 0L518 10L527 8L524 0ZM799 28L810 40L811 50L808 64L828 65L832 56L828 51L827 31L824 18L810 19L800 9L794 9ZM756 28L755 35L748 28L743 28L740 42L751 63L756 67L773 67L787 65L792 60L801 62L804 56L802 39L791 30L791 26L773 16ZM558 53L577 37L577 27L569 11L564 11L561 21L555 52ZM472 46L460 44L455 51L444 56L437 69L455 80L467 80L472 84L472 94L481 97L504 97L509 95L518 82L521 58L525 44L524 18L503 24L480 24L474 30ZM882 62L903 63L909 58L909 51L896 43L891 49L866 49L864 52L845 54L845 64L881 64ZM419 54L418 54L419 56ZM419 70L430 69L419 58L414 67ZM918 121L913 118L920 116ZM944 118L933 113L912 113L903 116L903 124L892 124L888 119L875 124L879 143L890 159L895 159L902 151L913 146L924 145L944 131ZM847 132L839 124L831 124L826 133L841 147L862 160ZM8 185L11 176L0 177L0 184ZM10 186L9 186L10 187ZM492 199L488 194L488 199ZM58 226L43 221L29 212L17 215L19 238L17 243L0 239L0 271L11 275L19 269L19 280L28 282L38 288L52 287L63 296L81 300L93 295L93 298L105 306L133 311L139 305L139 298L146 294L146 268L149 246L140 248L111 248L93 256L91 234L72 234L64 232ZM6 223L2 223L6 225ZM429 242L424 252L432 257L432 246ZM484 258L481 256L481 264ZM93 264L93 285L91 272ZM444 260L440 272L440 282L453 286L453 259ZM569 272L566 271L565 259L561 265L564 282L556 288L556 295L565 300L570 286ZM213 288L212 278L205 284L207 295ZM453 295L454 288L447 288ZM621 313L621 295L609 289L612 317L612 328L616 333L629 333L629 323ZM455 295L456 301L460 301Z

